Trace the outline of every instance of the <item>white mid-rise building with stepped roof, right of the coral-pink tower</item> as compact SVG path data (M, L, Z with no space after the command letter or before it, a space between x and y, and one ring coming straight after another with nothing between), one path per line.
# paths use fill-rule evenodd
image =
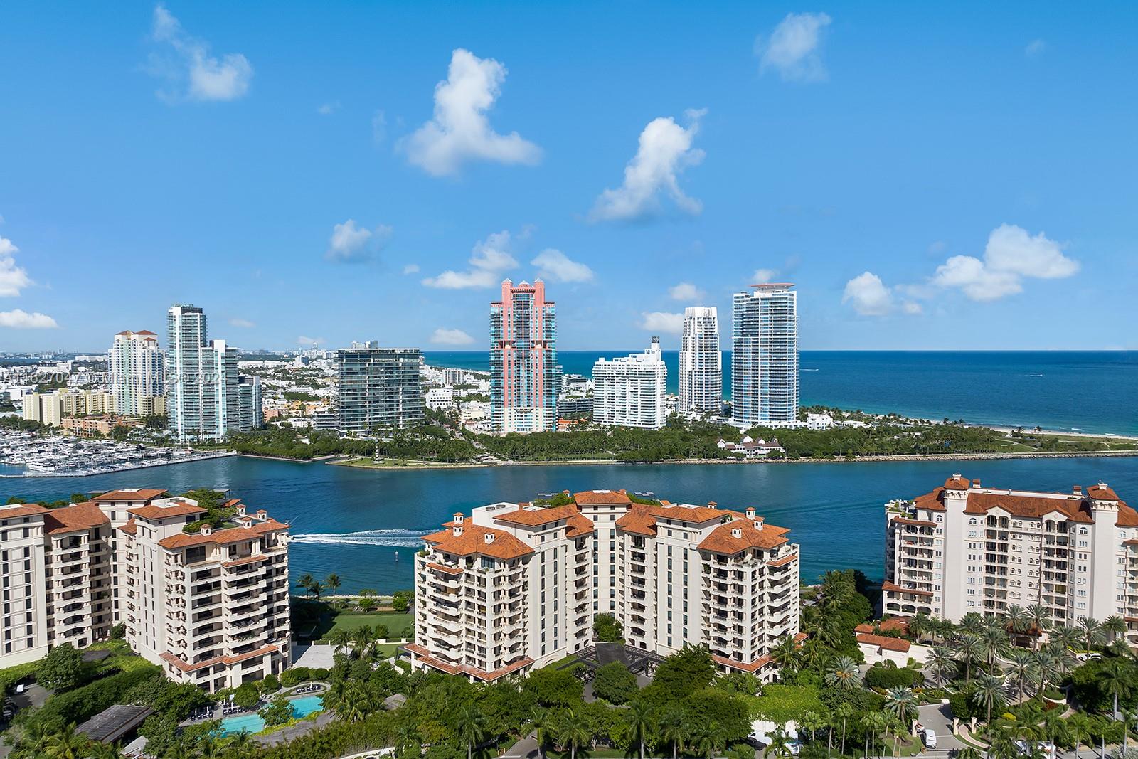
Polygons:
M660 429L667 421L668 368L660 338L643 353L593 364L593 421L612 427Z

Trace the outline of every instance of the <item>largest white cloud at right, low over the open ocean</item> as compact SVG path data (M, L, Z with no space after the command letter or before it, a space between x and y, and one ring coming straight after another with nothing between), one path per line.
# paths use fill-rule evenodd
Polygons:
M998 300L1023 291L1023 279L1065 279L1079 262L1040 232L1032 237L1014 224L1000 224L988 236L983 259L953 256L937 267L932 284L956 287L972 300Z

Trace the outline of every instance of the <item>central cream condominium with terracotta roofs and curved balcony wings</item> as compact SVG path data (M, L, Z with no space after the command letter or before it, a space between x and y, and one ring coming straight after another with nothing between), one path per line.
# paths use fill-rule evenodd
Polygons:
M798 635L799 548L744 512L624 490L567 505L495 503L454 514L415 555L415 669L495 680L591 645L597 613L658 655L706 645L727 670L774 676Z

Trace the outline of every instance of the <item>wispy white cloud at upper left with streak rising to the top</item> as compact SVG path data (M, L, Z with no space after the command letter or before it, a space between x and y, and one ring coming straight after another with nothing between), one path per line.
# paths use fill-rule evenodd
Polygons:
M239 52L220 59L209 55L209 46L188 35L166 7L154 8L151 36L170 44L173 57L151 58L151 69L167 82L158 97L167 102L180 100L237 100L249 91L253 66Z

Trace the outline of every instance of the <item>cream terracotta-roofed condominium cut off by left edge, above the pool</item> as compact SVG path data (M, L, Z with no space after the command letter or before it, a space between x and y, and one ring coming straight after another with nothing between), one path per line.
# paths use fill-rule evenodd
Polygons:
M131 647L178 682L216 691L280 674L290 655L289 528L237 500L225 505L234 515L220 529L165 490L0 506L0 667L64 642L90 645L123 622Z

